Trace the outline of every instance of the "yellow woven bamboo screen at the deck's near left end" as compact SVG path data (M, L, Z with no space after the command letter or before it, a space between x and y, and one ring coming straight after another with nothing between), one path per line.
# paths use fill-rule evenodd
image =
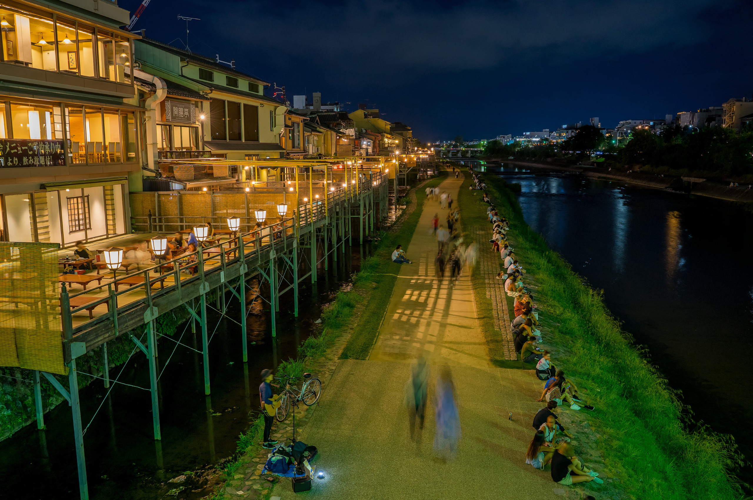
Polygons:
M56 243L0 242L0 366L67 374Z

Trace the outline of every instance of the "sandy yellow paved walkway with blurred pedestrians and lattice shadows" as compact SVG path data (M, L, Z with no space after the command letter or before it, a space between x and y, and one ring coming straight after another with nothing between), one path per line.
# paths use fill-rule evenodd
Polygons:
M441 189L457 198L461 180L450 178ZM449 274L444 283L434 279L437 244L429 228L437 212L444 220L447 211L428 201L407 249L414 263L401 266L370 359L339 362L299 438L319 447L315 463L325 479L297 495L282 480L273 498L565 498L566 486L553 483L549 471L525 463L532 418L541 408L532 395L540 384L528 371L489 362L467 269L454 286ZM410 362L419 353L431 363L430 405L422 435L411 438L404 394ZM462 425L453 462L438 459L432 449L431 397L443 365L453 373Z

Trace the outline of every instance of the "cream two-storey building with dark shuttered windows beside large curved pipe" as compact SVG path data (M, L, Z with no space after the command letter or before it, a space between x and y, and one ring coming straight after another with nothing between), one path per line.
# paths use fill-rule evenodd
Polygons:
M135 57L140 71L161 78L167 86L163 100L158 96L159 102L154 98L147 102L151 98L147 93L141 101L145 108L157 111L157 120L152 122L157 126L157 159L285 158L280 136L287 132L288 108L264 95L268 82L237 71L232 61L219 62L218 57L201 56L145 36L136 41ZM300 121L298 127L298 135L286 133L285 140L291 150L303 151ZM150 134L145 131L147 137ZM150 166L155 168L151 158ZM260 173L266 176L267 171ZM245 168L231 167L228 174L239 182L250 180ZM132 186L132 190L138 189Z

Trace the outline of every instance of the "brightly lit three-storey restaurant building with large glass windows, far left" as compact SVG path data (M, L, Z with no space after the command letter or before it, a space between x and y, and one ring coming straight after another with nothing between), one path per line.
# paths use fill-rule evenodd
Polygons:
M133 39L114 2L0 2L0 241L130 232Z

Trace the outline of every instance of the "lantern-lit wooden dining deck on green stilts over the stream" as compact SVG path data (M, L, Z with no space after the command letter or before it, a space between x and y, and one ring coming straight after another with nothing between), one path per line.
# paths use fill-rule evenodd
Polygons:
M206 159L181 163L206 162L209 164L232 164L240 168L270 168L277 171L279 186L251 186L245 192L139 192L131 193L132 226L144 238L155 232L191 232L194 227L211 223L220 229L227 224L224 241L203 241L194 253L184 253L180 259L159 262L148 268L139 268L130 274L116 274L105 270L97 274L105 280L84 286L84 290L72 289L81 283L69 275L59 277L59 293L53 292L53 300L42 300L41 308L34 309L39 326L59 332L62 339L57 347L48 349L46 359L14 364L33 370L36 418L38 429L44 429L44 413L41 405L40 380L46 378L66 398L72 409L75 451L78 462L78 480L81 498L89 498L86 461L84 458L84 427L81 423L76 359L99 348L104 365L102 381L105 387L117 380L108 374L107 343L124 336L133 341L136 349L142 350L148 359L151 392L151 412L154 439L160 440L160 414L157 393L157 335L160 332L155 320L176 308L184 308L191 316L192 329L200 329L203 356L205 393L211 393L209 379L209 344L212 333L207 325L207 295L216 298L218 313L239 326L239 349L243 362L248 360L246 338L245 292L246 281L255 278L269 286L272 335L276 336L276 312L279 311L279 296L292 291L294 315L298 315L298 283L310 279L316 282L316 268L328 268L328 259L338 259L346 251L346 243L373 233L375 224L385 220L389 209L390 181L396 174L404 174L410 167L395 165L383 158L350 158L330 160L254 160L247 162ZM431 160L422 160L417 170L435 170ZM390 170L394 173L390 176ZM392 177L392 178L390 178ZM268 183L267 183L268 184ZM395 181L395 185L397 182ZM233 196L217 203L215 197ZM192 197L202 197L209 211L201 217L181 214L179 198L193 202ZM153 205L140 203L139 197L149 197ZM272 200L279 198L279 203ZM265 223L266 210L258 200L277 211L274 223ZM170 211L169 203L175 200L176 211ZM146 214L142 214L146 208ZM175 213L177 212L177 213ZM235 219L231 223L228 219ZM235 225L235 227L233 227ZM197 232L197 233L200 233ZM5 244L19 247L20 244ZM56 249L54 249L56 250ZM124 250L124 249L111 249ZM44 250L43 250L44 251ZM120 253L122 258L123 252ZM340 257L342 258L342 257ZM57 259L41 259L56 269ZM117 266L115 266L117 268ZM112 274L110 274L112 273ZM73 276L73 275L71 275ZM93 274L87 274L93 276ZM48 292L47 295L50 295ZM262 298L255 295L254 300ZM57 302L59 300L59 302ZM238 300L242 306L239 318L227 316L228 306ZM227 302L226 302L227 301ZM17 303L21 302L20 298ZM54 302L54 303L53 303ZM211 302L211 301L210 301ZM38 302L39 303L39 302ZM22 302L23 304L23 302ZM97 314L97 306L106 306L107 311ZM17 305L18 308L18 305ZM23 309L23 305L21 307ZM105 311L105 307L99 308ZM94 312L93 312L94 311ZM81 314L84 313L84 314ZM88 319L85 314L88 313ZM76 316L78 314L78 316ZM58 326L59 325L59 326ZM32 328L33 329L33 328ZM31 332L33 333L33 332ZM23 350L21 343L17 350ZM48 346L49 347L49 346ZM19 356L29 359L29 356ZM5 364L5 363L4 363ZM11 363L8 363L11 365ZM59 383L53 374L67 375L69 388ZM144 408L148 411L148 408Z

